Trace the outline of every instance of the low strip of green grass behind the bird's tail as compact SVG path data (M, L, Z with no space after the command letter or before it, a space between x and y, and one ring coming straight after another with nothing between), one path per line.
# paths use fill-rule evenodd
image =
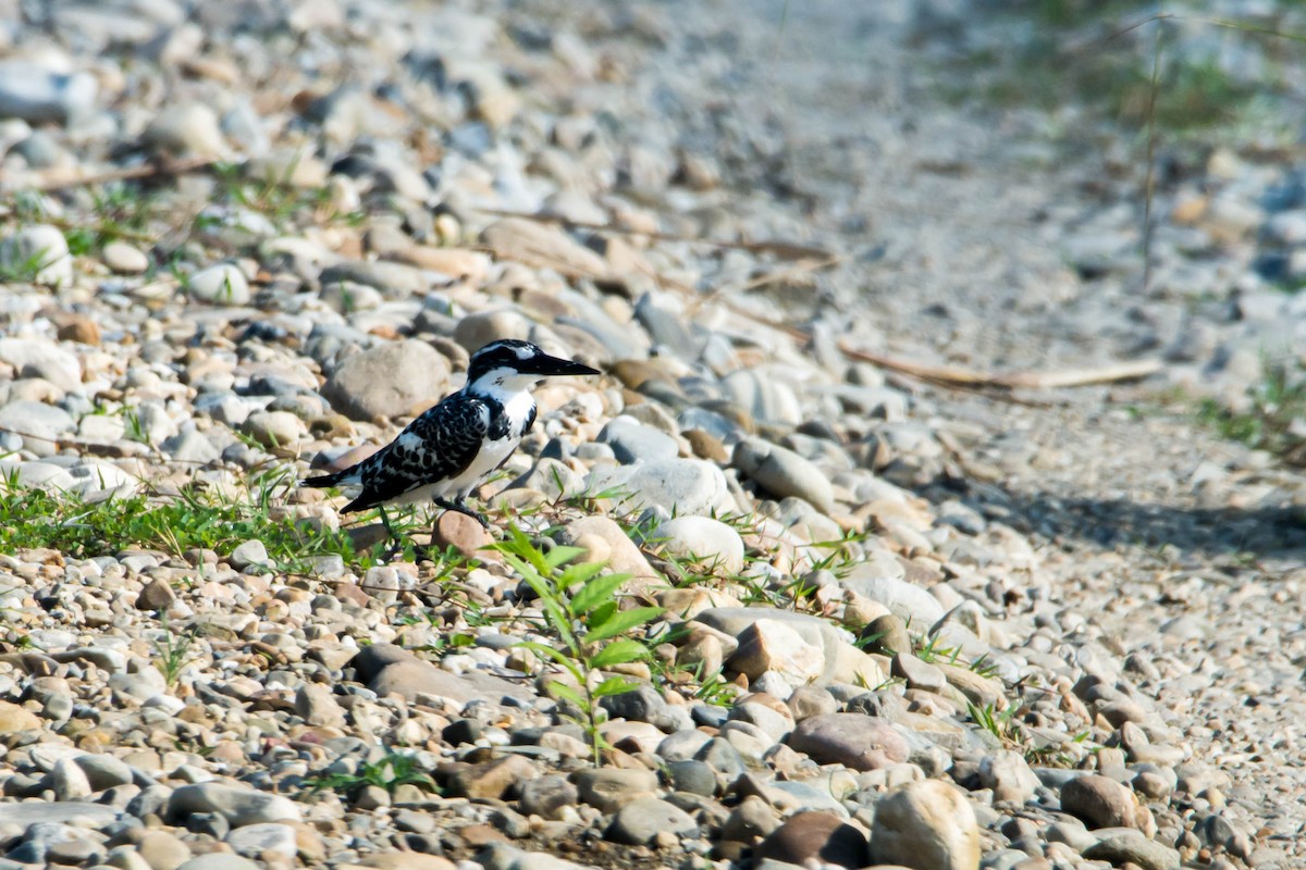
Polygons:
M180 557L205 548L226 554L247 540L261 540L270 565L308 573L312 556L338 554L346 563L370 565L347 535L317 532L273 513L282 492L264 481L247 502L187 492L176 498L136 494L89 502L72 494L0 484L0 552L56 549L73 558L114 556L124 549L162 550Z

